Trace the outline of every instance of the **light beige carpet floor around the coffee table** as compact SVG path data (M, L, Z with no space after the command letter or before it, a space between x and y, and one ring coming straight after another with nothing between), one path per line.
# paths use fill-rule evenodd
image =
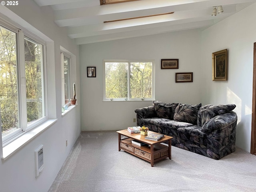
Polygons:
M256 156L240 148L213 160L172 146L150 166L118 151L115 131L82 132L48 192L255 192Z

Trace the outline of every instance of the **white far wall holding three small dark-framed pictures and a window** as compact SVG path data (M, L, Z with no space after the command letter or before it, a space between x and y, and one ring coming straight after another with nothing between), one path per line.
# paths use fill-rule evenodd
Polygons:
M80 45L82 130L120 130L134 126L134 110L149 101L103 102L104 59L155 60L155 99L198 104L201 32L186 30L166 34ZM179 69L161 70L161 59L179 59ZM96 66L96 78L87 78L87 66ZM175 83L176 72L193 72L194 82Z

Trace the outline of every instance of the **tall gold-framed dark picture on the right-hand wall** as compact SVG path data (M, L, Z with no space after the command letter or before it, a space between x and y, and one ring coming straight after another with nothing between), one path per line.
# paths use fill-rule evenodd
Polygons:
M212 80L227 80L227 49L212 53Z

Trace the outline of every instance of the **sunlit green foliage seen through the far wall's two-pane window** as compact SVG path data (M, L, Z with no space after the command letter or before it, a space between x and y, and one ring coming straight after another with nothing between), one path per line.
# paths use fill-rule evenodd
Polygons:
M128 98L128 63L106 62L106 98ZM152 98L152 63L130 63L130 98Z

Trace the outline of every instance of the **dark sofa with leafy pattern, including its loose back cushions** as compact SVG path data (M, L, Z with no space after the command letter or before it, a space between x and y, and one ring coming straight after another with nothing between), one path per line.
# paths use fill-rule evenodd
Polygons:
M236 105L152 103L135 110L137 126L172 136L173 146L216 160L236 150Z

